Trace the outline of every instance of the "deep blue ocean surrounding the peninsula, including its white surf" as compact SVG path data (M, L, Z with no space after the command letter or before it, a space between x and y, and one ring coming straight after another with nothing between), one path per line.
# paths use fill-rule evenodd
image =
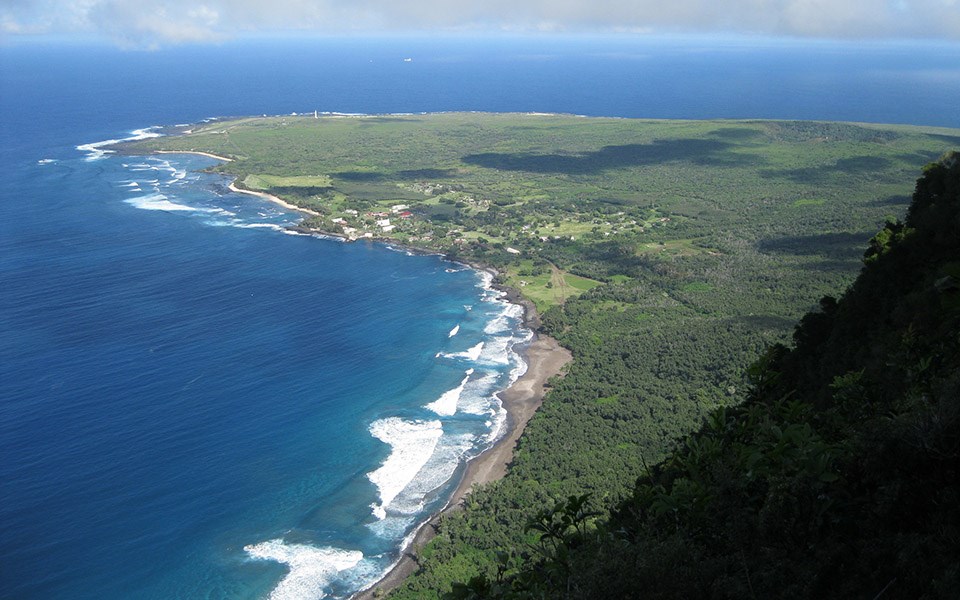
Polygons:
M0 596L348 595L442 505L522 368L517 312L476 272L288 235L296 214L211 159L78 146L315 109L960 127L958 65L949 44L729 39L0 48Z

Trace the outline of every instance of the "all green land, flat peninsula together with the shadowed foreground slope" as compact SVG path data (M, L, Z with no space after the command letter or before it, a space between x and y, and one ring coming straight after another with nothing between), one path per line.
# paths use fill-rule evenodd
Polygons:
M920 533L891 521L956 504L956 407L939 402L957 397L956 315L934 294L960 277L941 204L955 159L910 197L958 145L916 127L442 114L218 121L136 150L231 158L215 169L320 213L304 227L492 265L572 351L507 476L442 520L394 597L873 597L891 578L898 596L957 583L947 509ZM933 449L909 437L934 430ZM875 537L848 544L858 529ZM936 556L929 572L908 572L911 553Z

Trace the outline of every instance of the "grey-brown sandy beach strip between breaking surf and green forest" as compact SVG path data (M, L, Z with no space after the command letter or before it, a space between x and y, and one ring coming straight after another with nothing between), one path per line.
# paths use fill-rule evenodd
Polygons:
M529 310L529 309L528 309ZM531 315L528 313L528 322ZM527 363L527 372L513 385L499 393L503 407L507 411L507 432L486 452L467 463L459 485L446 507L434 514L413 536L411 542L403 548L400 560L379 581L369 588L357 592L352 600L373 600L377 590L384 592L399 586L404 579L417 570L416 548L422 548L436 535L436 526L440 517L450 511L459 510L463 499L474 485L485 484L502 478L507 473L507 465L513 459L513 449L523 433L527 421L543 402L547 381L559 375L563 367L572 360L570 351L557 340L538 335L523 353Z

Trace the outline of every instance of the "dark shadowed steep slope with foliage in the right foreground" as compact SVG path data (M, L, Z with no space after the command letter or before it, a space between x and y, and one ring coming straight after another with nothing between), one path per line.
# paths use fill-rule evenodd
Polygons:
M926 167L820 308L608 518L545 510L537 546L504 558L525 566L451 596L955 597L960 154Z

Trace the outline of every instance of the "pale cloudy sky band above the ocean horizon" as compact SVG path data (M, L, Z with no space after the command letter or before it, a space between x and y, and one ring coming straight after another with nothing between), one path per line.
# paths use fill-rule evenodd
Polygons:
M710 33L960 41L960 0L0 0L0 36L131 46L282 32Z

